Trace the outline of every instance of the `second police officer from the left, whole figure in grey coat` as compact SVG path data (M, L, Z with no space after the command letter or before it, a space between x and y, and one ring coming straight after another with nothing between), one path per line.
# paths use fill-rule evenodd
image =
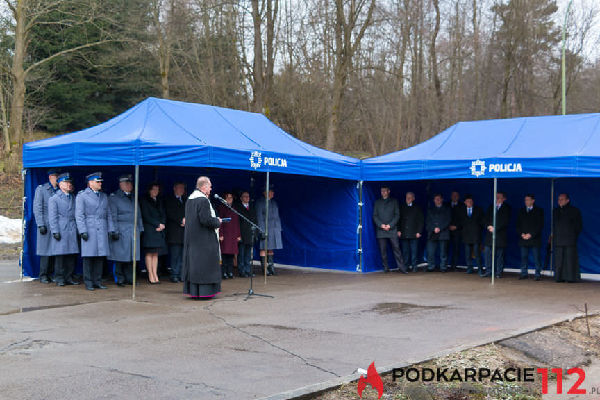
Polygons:
M77 226L75 224L75 195L73 178L65 172L56 180L58 192L48 200L48 219L52 235L52 255L57 286L78 285L73 274L77 263L79 245L77 243Z

